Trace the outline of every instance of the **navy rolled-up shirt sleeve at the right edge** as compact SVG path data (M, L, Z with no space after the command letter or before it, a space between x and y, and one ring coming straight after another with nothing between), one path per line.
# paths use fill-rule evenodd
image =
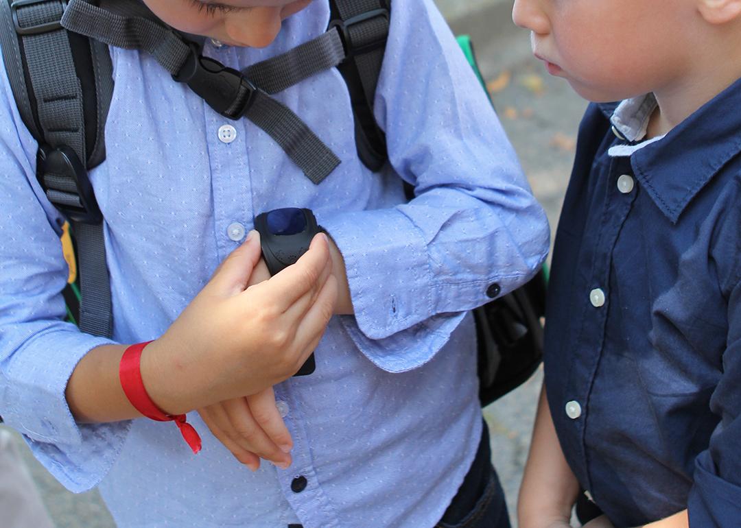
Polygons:
M695 461L694 485L688 499L690 526L738 526L741 519L741 284L728 301L728 347L722 377L711 398L721 417L710 447Z

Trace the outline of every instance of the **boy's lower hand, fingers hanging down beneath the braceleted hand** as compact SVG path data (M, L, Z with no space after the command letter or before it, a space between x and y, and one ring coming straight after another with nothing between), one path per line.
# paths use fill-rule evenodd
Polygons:
M293 441L276 407L273 387L198 412L213 435L253 471L260 467L260 458L282 469L290 466Z

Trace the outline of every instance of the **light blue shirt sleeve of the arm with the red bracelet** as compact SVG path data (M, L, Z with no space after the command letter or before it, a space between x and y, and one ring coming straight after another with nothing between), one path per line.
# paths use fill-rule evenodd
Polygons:
M0 415L74 492L113 464L128 423L79 425L64 391L76 364L111 341L64 323L67 264L59 215L33 177L36 143L0 61Z

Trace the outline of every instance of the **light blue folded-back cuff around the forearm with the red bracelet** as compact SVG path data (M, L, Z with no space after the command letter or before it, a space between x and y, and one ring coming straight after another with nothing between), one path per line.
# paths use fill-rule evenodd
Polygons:
M102 480L130 427L130 422L77 424L67 405L64 392L76 365L106 344L113 341L76 329L45 330L10 355L0 370L5 424L24 435L41 464L72 492Z

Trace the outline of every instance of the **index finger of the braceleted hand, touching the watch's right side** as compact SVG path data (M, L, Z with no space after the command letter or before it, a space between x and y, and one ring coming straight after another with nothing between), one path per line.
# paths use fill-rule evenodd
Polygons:
M319 233L311 241L309 250L296 261L296 264L277 273L268 283L258 284L256 288L263 286L269 288L270 298L275 302L276 310L285 312L299 298L314 288L321 287L319 278L330 261L328 244L327 235Z

